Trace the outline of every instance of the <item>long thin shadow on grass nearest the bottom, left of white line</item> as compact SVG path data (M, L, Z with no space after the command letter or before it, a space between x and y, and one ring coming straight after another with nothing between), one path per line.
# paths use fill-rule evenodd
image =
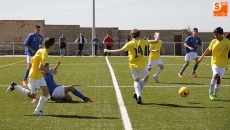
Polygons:
M80 118L80 119L118 119L116 117L95 117L95 116L79 116L79 115L47 115L58 118Z

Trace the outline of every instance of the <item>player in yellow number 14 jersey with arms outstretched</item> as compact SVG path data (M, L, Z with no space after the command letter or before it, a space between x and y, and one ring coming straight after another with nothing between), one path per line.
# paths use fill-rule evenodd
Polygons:
M104 49L104 52L109 53L122 53L129 51L129 67L131 69L132 77L134 79L135 93L133 98L136 99L137 104L142 104L141 92L148 81L148 69L144 59L145 46L152 43L157 43L159 39L159 33L155 33L156 38L154 40L143 40L140 39L140 31L138 29L133 29L130 32L132 38L131 41L126 43L121 49L108 50ZM142 80L140 79L142 78Z

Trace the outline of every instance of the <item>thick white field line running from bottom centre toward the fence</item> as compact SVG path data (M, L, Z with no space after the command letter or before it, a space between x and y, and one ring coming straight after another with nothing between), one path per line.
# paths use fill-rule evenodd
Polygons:
M123 101L123 98L122 98L122 95L121 95L121 91L119 89L119 86L118 86L117 79L116 79L116 76L114 74L113 68L112 68L107 56L105 57L105 59L106 59L107 65L109 67L110 74L112 76L113 85L114 85L114 88L115 88L118 105L119 105L119 108L120 108L120 111L121 111L121 117L122 117L122 121L123 121L123 124L124 124L124 128L125 128L125 130L132 130L133 128L132 128L132 125L131 125L131 122L130 122L130 119L129 119L129 115L128 115L127 109L125 107L125 104L124 104L124 101Z

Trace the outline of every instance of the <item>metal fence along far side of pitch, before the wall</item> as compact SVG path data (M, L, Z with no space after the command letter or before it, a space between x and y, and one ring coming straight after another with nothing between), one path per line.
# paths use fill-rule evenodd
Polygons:
M208 47L210 42L203 42L202 46L197 49L198 55L201 55L204 50ZM125 42L117 42L113 43L112 49L119 49L124 46ZM185 47L184 42L163 42L162 46L165 49L164 55L172 55L172 56L184 56L185 55ZM97 49L97 55L102 56L104 46L100 43ZM76 43L68 42L66 45L66 56L74 56L78 51L78 46ZM94 46L91 43L85 43L82 55L91 56L94 55ZM148 50L147 50L148 51ZM148 53L147 53L148 54ZM24 55L24 45L19 42L0 42L0 55ZM49 53L49 55L60 55L59 44L55 43L54 50ZM123 54L113 54L113 55L125 55Z

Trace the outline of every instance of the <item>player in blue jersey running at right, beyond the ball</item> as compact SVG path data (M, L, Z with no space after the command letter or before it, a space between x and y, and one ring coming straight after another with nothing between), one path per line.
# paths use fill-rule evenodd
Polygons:
M198 29L193 28L192 36L188 36L185 39L185 43L184 43L185 52L186 52L185 64L183 65L183 67L181 68L180 72L178 73L179 77L182 77L182 74L183 74L184 70L189 65L189 62L192 59L194 59L196 63L194 65L193 69L192 69L191 75L193 75L194 77L197 77L195 71L196 71L199 63L198 63L198 55L197 55L196 50L197 50L197 47L202 46L201 39L200 39L199 36L197 36L197 33L198 33Z

